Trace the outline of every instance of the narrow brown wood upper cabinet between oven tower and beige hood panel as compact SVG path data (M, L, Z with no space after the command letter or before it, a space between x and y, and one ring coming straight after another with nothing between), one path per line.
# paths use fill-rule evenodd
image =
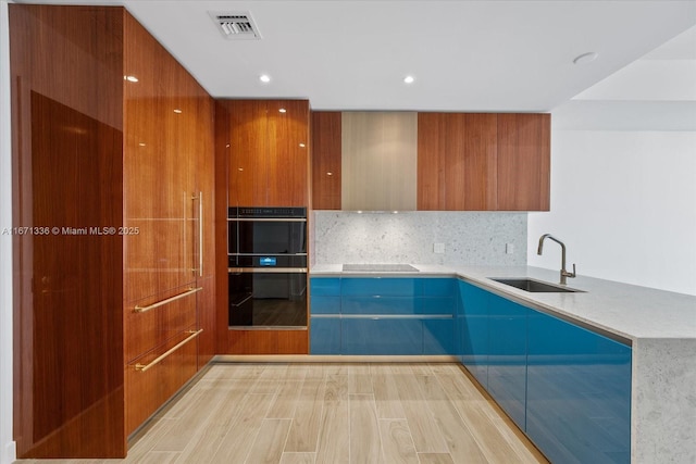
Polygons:
M339 111L312 111L312 208L340 210Z

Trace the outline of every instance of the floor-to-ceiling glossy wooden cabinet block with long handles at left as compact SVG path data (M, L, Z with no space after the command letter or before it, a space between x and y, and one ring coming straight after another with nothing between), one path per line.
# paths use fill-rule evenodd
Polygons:
M214 353L212 99L122 8L10 29L17 454L124 456Z

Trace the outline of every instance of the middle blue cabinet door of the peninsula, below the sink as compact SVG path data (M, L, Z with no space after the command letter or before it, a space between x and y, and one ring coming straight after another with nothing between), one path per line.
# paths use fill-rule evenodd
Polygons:
M526 423L529 312L505 298L489 297L488 392L522 430Z

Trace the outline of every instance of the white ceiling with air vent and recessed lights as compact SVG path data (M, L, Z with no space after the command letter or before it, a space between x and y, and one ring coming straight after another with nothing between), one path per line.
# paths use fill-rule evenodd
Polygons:
M124 4L213 97L314 110L550 111L696 25L694 0L72 3ZM210 11L250 12L263 38L226 40Z

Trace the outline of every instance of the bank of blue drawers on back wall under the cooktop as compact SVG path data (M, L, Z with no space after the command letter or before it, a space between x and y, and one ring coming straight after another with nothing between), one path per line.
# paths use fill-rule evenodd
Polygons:
M457 280L312 277L310 353L453 354Z

